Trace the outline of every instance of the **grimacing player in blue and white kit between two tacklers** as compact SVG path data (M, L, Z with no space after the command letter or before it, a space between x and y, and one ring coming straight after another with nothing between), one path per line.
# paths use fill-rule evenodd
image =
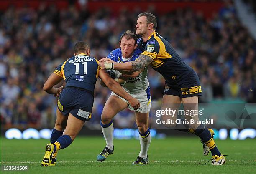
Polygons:
M120 48L111 51L108 58L114 62L129 62L135 61L142 53L137 48L137 37L131 31L126 31L120 37ZM129 105L129 103L116 93L111 93L111 96L106 102L101 115L101 129L106 140L106 147L97 156L98 161L105 161L108 155L114 151L113 146L113 117L125 108L135 112L135 120L139 131L139 140L141 144L141 151L133 164L144 165L148 163L148 147L151 141L150 130L148 129L148 117L151 106L150 88L148 83L148 67L142 72L121 71L126 76L129 76L126 83L122 85L124 90L140 102L140 108L136 111ZM128 74L127 74L128 73Z

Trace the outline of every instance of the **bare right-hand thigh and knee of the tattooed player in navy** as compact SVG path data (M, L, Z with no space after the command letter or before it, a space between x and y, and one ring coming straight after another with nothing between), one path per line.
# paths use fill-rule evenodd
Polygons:
M182 98L184 110L189 110L190 115L185 115L187 120L199 120L198 118L198 96ZM190 128L196 129L200 124L190 124Z

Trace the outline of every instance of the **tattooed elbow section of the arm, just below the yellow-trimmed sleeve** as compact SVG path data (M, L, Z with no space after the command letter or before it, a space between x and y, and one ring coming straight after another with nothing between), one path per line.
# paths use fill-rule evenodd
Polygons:
M153 59L147 55L141 54L135 61L131 61L133 71L143 71Z

